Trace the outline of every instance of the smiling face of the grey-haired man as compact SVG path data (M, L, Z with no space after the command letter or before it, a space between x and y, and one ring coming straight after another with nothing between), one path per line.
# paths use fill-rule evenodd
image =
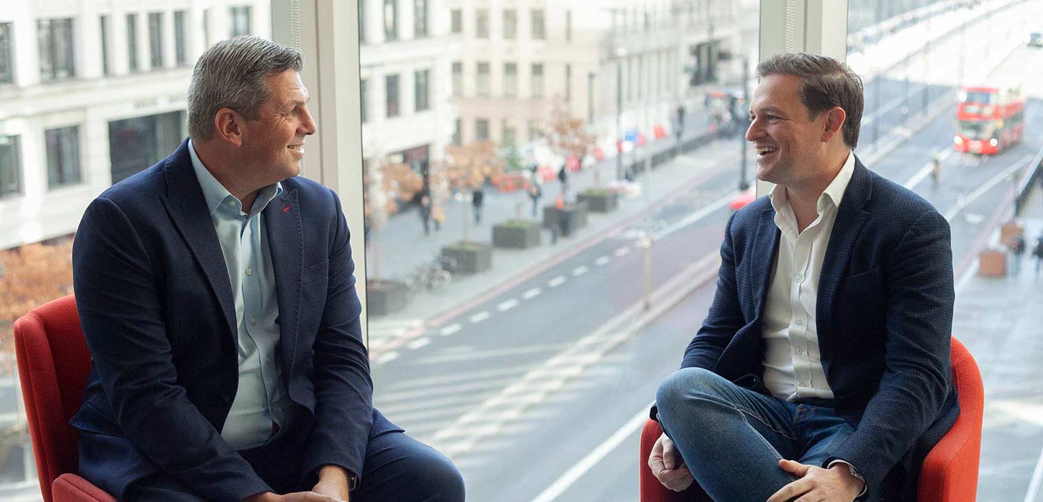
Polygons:
M305 136L315 133L308 112L308 90L300 74L289 70L265 77L270 93L257 120L245 121L242 153L244 176L254 190L300 174Z

